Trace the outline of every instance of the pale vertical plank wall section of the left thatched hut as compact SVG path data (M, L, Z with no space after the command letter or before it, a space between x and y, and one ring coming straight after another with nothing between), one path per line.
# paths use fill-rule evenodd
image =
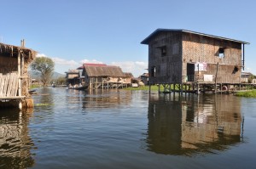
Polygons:
M7 73L5 75L0 73L0 97L17 96L18 77L17 72Z

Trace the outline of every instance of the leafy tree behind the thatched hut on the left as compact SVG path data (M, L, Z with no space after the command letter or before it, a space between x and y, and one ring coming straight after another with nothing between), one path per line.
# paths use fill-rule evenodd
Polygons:
M55 70L54 61L47 57L38 57L30 66L32 70L39 73L41 82L46 86L51 80L53 70Z

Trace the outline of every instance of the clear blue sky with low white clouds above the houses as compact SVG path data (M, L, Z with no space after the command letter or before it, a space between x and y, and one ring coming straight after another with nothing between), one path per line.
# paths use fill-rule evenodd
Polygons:
M253 0L0 0L0 42L55 60L63 73L83 62L146 72L148 46L157 28L186 29L250 42L246 71L256 74L256 1Z

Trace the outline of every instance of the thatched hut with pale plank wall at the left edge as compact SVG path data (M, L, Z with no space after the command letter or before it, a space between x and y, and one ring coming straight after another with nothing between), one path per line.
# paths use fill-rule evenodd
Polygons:
M37 53L25 48L0 42L0 107L32 107L33 102L28 88L30 78L27 67Z

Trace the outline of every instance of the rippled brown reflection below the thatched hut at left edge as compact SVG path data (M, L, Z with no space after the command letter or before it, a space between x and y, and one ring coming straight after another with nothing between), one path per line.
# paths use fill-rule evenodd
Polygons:
M32 139L28 133L28 113L0 110L0 168L33 166Z

